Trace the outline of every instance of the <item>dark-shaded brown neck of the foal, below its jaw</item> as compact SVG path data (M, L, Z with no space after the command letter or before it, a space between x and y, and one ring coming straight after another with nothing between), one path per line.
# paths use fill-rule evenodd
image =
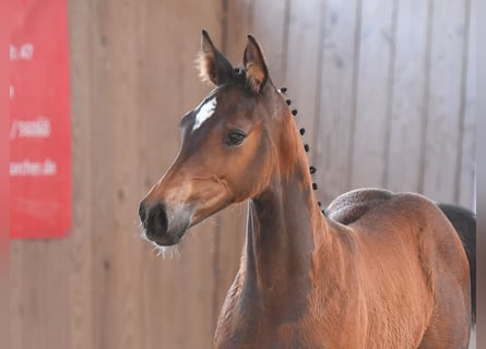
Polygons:
M249 203L244 290L278 318L298 317L304 311L315 234L325 230L305 153L303 157Z

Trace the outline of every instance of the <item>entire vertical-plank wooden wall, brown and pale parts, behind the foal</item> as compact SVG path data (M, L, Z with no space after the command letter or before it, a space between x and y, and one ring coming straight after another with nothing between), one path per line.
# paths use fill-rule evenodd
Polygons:
M263 46L308 132L325 203L357 186L472 207L477 0L70 0L73 228L11 244L11 348L210 348L245 205L192 229L180 257L141 241L138 202L208 86L200 31L234 63Z

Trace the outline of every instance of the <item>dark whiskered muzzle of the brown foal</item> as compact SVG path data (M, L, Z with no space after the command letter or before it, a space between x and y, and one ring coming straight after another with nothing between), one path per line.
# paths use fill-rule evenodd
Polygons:
M156 202L147 206L140 203L139 216L144 236L159 246L177 244L189 228L192 209L183 205L170 207Z

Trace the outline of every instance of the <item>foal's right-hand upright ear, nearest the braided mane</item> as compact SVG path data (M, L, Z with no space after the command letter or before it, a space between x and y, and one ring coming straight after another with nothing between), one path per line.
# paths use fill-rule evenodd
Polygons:
M244 53L244 65L251 89L257 94L260 93L269 77L269 70L266 69L261 47L252 35L248 35L248 43Z

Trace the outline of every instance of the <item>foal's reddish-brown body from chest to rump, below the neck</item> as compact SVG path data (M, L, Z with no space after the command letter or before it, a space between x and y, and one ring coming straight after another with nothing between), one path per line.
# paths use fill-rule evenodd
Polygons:
M352 203L342 205L349 198ZM293 243L294 248L309 251L309 245L315 246L299 273L289 267L295 267L286 257L292 253L271 249L276 265L265 261L262 269L291 270L277 279L263 270L254 273L258 263L253 260L269 250L259 251L261 245L253 242L262 234L274 241L272 231L282 237L282 230L256 231L254 226L268 224L253 222L258 214L252 205L246 257L223 306L216 348L467 347L467 263L463 251L454 248L455 231L425 197L380 190L342 195L330 205L329 218L315 212L311 229L291 231L300 242ZM284 215L288 217L284 226L293 226L288 220L295 217L301 219L295 214L297 207L311 212L305 202L292 206L294 214ZM275 216L266 217L275 220ZM442 245L443 241L451 242ZM455 282L448 280L451 275L459 276ZM278 290L265 288L264 282L274 282ZM463 302L454 306L458 294Z

